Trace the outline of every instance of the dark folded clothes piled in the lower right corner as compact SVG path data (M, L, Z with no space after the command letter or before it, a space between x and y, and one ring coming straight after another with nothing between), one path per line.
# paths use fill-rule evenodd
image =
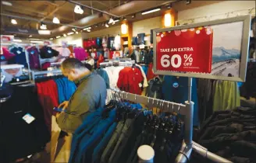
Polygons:
M237 163L256 162L256 109L216 111L204 122L197 142Z

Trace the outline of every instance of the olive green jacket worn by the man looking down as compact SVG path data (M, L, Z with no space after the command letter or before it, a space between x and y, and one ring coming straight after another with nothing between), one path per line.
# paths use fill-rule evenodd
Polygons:
M66 132L74 133L88 113L105 106L107 89L105 81L100 75L92 72L80 79L76 92L69 99L69 106L65 113L57 119L59 127Z

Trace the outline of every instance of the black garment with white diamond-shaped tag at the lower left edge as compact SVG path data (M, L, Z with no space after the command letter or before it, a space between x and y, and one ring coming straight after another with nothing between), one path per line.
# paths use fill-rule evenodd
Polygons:
M0 161L16 161L44 150L50 134L34 86L12 86L11 98L0 105ZM35 118L31 123L23 120L27 113Z

